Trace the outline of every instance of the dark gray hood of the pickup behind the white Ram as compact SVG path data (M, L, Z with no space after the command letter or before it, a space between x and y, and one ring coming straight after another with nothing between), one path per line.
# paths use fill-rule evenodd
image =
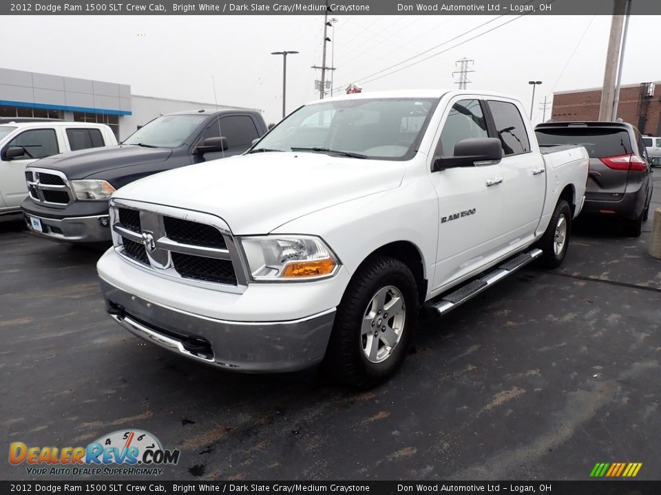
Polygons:
M105 170L162 162L171 153L170 148L143 148L143 146L119 144L107 148L90 148L53 155L40 159L39 162L34 163L34 166L59 170L69 179L85 179Z

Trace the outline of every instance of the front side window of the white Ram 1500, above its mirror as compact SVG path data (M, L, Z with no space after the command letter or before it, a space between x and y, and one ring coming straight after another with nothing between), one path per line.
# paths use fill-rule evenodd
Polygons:
M461 100L452 105L443 124L437 155L454 155L454 145L469 137L489 137L479 100Z

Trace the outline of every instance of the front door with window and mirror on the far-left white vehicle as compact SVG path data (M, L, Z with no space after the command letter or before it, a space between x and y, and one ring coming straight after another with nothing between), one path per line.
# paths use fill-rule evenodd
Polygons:
M6 158L8 148L22 147L25 153L16 158ZM25 167L39 158L60 152L54 129L29 129L14 137L3 146L0 153L0 180L6 208L16 208L28 196Z

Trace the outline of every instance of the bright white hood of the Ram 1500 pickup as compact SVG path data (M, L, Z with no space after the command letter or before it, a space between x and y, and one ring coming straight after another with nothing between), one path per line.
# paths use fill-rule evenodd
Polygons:
M404 170L397 161L255 153L152 175L113 197L216 214L237 235L266 234L305 214L396 188Z

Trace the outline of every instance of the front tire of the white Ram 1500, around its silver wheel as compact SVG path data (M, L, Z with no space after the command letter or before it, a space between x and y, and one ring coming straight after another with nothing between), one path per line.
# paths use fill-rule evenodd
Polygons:
M384 342L377 339L377 348L386 358L381 362L370 362L364 347L368 347L367 339L373 338L371 335L362 335L363 320L368 312L373 312L370 308L373 307L372 302L376 294L384 290L390 290L389 294L397 294L392 288L403 298L404 313L399 316L399 341L388 352L385 345L380 347ZM393 300L394 298L386 300L386 305ZM333 332L326 351L328 371L336 380L356 388L368 388L384 382L397 371L406 358L412 334L417 326L418 312L417 285L409 267L389 256L368 259L354 274L337 307ZM397 323L393 323L392 316L388 316L387 320L384 323L387 323L389 331ZM377 331L378 329L377 326ZM368 333L371 334L371 330Z

